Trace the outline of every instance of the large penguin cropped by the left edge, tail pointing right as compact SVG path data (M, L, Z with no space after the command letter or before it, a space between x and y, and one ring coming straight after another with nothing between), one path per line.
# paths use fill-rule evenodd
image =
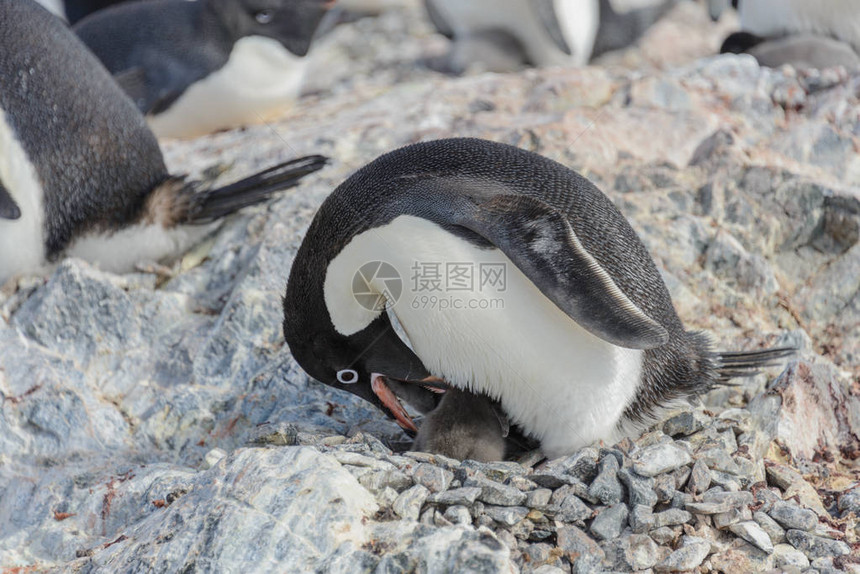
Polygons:
M319 169L314 156L213 190L167 173L146 121L66 25L0 0L0 283L63 255L126 271ZM14 246L14 248L10 248Z

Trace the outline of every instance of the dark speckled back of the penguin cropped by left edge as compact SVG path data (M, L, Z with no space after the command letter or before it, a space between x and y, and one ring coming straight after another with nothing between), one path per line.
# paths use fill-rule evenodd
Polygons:
M44 190L47 255L139 217L167 178L143 116L98 60L32 0L0 0L0 107Z

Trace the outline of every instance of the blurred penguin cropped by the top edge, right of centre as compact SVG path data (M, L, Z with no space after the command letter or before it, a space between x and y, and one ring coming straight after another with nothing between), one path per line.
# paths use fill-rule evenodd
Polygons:
M425 0L452 40L441 66L510 72L527 66L583 66L636 42L677 0L617 10L610 0Z

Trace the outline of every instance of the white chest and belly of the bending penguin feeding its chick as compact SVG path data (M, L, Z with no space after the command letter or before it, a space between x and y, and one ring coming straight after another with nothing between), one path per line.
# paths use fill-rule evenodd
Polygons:
M400 216L358 236L332 261L325 298L349 334L373 318L350 293L369 261L390 263L402 294L391 308L424 365L449 383L497 398L549 456L614 441L639 385L642 352L585 331L497 249ZM391 292L388 280L371 280Z

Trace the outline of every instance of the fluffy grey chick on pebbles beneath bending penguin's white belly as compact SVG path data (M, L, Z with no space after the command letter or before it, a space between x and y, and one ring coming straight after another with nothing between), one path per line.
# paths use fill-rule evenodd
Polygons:
M457 460L504 460L507 434L507 419L492 400L450 389L424 417L412 448Z

